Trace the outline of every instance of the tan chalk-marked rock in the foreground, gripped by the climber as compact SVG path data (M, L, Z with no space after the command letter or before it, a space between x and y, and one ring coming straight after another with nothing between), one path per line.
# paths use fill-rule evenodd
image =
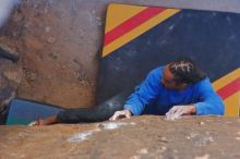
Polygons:
M1 126L0 158L240 158L240 119L143 115L93 124Z

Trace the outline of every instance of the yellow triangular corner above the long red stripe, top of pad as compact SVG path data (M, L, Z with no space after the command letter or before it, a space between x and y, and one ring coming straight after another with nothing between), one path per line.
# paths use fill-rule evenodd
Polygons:
M147 7L135 7L127 4L109 4L105 25L105 33L108 33L130 17L136 15Z

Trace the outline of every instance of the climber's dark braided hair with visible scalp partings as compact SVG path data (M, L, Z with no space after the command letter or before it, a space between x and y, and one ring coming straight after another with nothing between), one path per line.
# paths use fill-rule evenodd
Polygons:
M169 70L175 76L176 83L196 83L206 77L196 64L187 57L179 58L169 64Z

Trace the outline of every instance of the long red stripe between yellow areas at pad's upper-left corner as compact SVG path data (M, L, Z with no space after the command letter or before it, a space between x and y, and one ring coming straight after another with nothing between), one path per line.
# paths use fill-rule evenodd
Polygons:
M110 44L111 41L116 40L120 36L127 34L128 32L132 30L136 26L141 25L142 23L146 22L151 17L157 15L158 13L163 12L165 8L147 8L136 15L130 17L129 20L124 21L122 24L118 25L113 29L109 30L105 34L105 46Z

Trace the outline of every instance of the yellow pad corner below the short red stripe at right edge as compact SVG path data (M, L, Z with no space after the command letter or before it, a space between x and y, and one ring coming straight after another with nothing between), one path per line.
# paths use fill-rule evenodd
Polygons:
M224 103L225 103L225 115L226 117L239 117L240 91L225 99Z

